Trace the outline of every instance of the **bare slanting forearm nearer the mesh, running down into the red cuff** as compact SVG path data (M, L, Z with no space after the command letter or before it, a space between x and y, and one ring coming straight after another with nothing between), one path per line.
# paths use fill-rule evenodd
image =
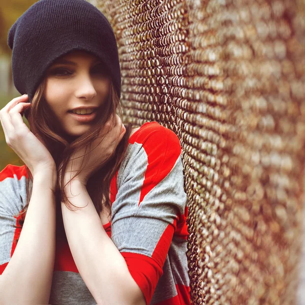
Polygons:
M105 232L85 186L73 180L66 191L74 205L83 207L70 211L62 204L63 220L73 259L95 300L107 305L145 304L125 259Z

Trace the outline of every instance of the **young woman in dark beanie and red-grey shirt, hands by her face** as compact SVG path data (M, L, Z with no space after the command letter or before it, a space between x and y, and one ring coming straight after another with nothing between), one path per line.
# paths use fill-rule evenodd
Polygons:
M0 172L0 304L189 304L179 140L121 123L107 19L84 0L41 0L8 45L25 95L0 119L25 165Z

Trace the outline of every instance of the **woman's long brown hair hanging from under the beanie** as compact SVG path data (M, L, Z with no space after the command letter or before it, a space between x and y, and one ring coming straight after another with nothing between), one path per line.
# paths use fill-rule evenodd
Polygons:
M97 111L97 116L99 120L95 126L92 127L88 132L76 138L72 142L68 142L65 136L62 134L62 130L58 128L59 124L54 120L54 115L52 110L46 103L44 99L44 91L46 86L46 79L44 79L36 90L34 98L32 100L32 106L28 112L25 112L27 117L31 132L39 138L39 140L47 147L53 157L57 177L59 177L59 171L65 172L68 161L73 156L77 149L85 149L84 162L82 167L75 176L77 176L81 170L85 167L86 160L89 159L90 151L92 150L92 142L101 135L101 131L104 128L107 120L111 115L118 113L120 116L122 114L121 106L119 103L119 98L113 87L112 82L110 83L109 95L104 103L103 107L100 107ZM129 136L132 130L131 124L126 126L126 133L120 143L117 145L112 156L107 160L104 165L94 172L88 179L86 184L86 189L90 198L92 199L97 212L100 214L103 207L109 208L111 215L111 202L110 202L110 182L116 171L118 170L121 161L123 161L125 152L128 146ZM101 139L103 141L103 139ZM19 228L22 228L26 210L31 199L33 186L33 175L29 171L28 167L25 165L25 170L27 174L26 179L26 204L23 210L19 214ZM74 176L74 177L75 177ZM73 177L73 178L74 178ZM61 202L71 209L73 205L65 191L64 191L64 175L62 175L61 181L58 181L55 190L56 201L56 234L66 238L62 213L61 213ZM62 191L61 191L62 190ZM75 205L73 205L75 207ZM108 217L110 216L108 215Z

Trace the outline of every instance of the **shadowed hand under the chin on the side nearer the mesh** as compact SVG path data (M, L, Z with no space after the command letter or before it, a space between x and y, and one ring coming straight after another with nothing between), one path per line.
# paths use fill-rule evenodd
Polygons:
M122 124L118 115L111 117L102 131L101 137L98 137L92 143L92 151L89 153L89 160L85 168L82 169L80 174L75 178L83 185L86 185L90 175L96 172L105 162L112 156L120 140L126 132L125 126ZM104 138L104 139L103 139ZM102 142L101 142L102 141ZM84 159L84 149L79 149L73 155L75 160L70 160L65 172L65 183L70 181L71 178L81 169L81 164ZM59 175L61 176L61 174Z

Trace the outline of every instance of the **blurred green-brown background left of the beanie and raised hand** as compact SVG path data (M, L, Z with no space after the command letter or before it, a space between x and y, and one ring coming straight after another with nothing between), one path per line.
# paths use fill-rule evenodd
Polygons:
M15 21L36 1L11 0L0 2L0 109L20 94L14 86L11 70L12 50L7 45L8 32ZM28 126L27 120L23 117ZM24 163L7 145L2 125L0 124L0 171L8 164L23 165Z

